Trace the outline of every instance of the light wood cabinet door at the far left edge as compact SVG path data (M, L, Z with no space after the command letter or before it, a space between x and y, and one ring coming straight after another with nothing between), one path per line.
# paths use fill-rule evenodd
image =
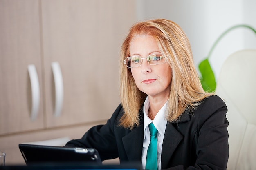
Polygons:
M0 0L0 135L43 128L38 0ZM40 86L38 117L31 120L34 64Z

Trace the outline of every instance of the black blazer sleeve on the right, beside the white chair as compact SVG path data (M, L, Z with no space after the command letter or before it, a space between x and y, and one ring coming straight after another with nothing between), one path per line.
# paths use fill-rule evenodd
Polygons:
M218 96L204 102L198 118L195 166L198 169L225 170L229 157L227 106Z

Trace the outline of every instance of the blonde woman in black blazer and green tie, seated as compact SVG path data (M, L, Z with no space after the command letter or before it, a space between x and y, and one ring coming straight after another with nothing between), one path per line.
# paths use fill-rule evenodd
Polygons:
M182 29L165 19L136 23L122 44L121 62L121 104L105 125L66 146L96 148L102 160L140 161L144 169L226 169L227 107L204 92ZM157 149L147 157L155 139Z

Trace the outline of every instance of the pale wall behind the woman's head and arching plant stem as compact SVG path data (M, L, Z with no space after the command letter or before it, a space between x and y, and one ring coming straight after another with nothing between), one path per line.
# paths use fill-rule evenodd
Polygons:
M256 0L137 0L138 20L166 18L186 32L198 66L224 31L237 24L256 29ZM256 49L256 35L249 29L229 32L210 57L216 78L226 57L245 48Z

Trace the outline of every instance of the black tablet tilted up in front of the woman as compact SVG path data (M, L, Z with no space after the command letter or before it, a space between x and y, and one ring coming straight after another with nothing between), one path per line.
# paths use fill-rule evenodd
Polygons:
M99 153L94 148L19 144L19 149L27 165L69 162L101 164Z

